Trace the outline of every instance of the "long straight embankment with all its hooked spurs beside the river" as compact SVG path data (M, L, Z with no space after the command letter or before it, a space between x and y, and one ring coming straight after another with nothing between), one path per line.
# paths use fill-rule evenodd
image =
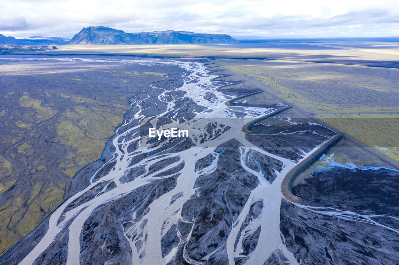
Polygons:
M276 59L277 60L277 59ZM216 63L215 63L216 64ZM221 66L222 67L222 66ZM224 69L227 70L227 69ZM219 70L219 71L223 71L223 70ZM215 71L215 72L219 72L219 71ZM230 72L232 72L231 70L228 70ZM209 72L211 73L211 72ZM208 73L208 74L209 74ZM234 72L232 72L233 74L243 78L242 76L240 76L239 74L236 74ZM245 79L245 78L243 78ZM245 79L246 80L246 79ZM329 140L327 140L327 142L325 142L322 146L320 146L320 148L318 150L316 150L315 153L311 154L310 156L308 156L307 158L305 158L304 160L302 160L301 162L298 162L298 164L296 164L294 166L294 168L292 168L285 176L284 179L282 180L281 183L281 193L284 196L285 199L287 199L288 201L294 202L294 203L298 203L300 201L302 201L302 199L294 194L292 194L292 183L295 180L295 177L301 172L303 171L305 168L307 168L308 166L310 166L310 164L312 164L314 161L316 161L317 158L320 158L320 156L328 151L332 146L334 146L334 144L336 144L338 142L338 140L340 140L342 137L345 138L345 140L348 140L349 142L352 142L353 144L355 144L356 146L358 146L359 148L362 148L363 150L366 150L367 152L369 152L371 155L376 156L377 158L381 159L383 162L386 162L387 164L393 166L394 169L399 170L399 163L392 160L391 158L384 156L383 154L377 152L376 150L372 149L371 147L363 144L362 142L359 142L358 140L352 138L351 136L349 136L348 134L342 133L340 131L338 131L338 129L328 125L327 123L325 123L324 121L317 119L316 117L302 111L301 109L299 109L298 107L292 105L291 103L288 103L287 101L280 99L280 97L277 97L276 95L272 94L271 92L265 90L265 88L262 88L260 86L258 86L257 84L254 84L253 82L247 80L249 83L253 84L254 86L257 86L259 89L261 89L261 92L265 92L268 95L270 95L271 97L281 101L282 103L286 104L286 107L282 107L279 109L276 109L275 111L268 113L267 115L260 117L259 119L256 119L255 121L252 121L250 123L247 123L246 125L243 126L243 128L241 128L241 131L243 131L243 133L247 133L247 134L253 134L252 131L249 131L249 128L253 125L255 125L254 122L259 122L263 119L266 119L267 117L276 115L278 113L280 113L281 111L284 111L286 109L292 108L295 109L296 111L298 111L299 113L305 115L306 117L308 117L309 119L311 119L312 121L315 121L316 123L330 129L331 131L335 132L336 135L334 135L332 138L330 138ZM243 81L243 82L247 82L247 81ZM224 86L220 86L219 88L216 88L216 90L220 90L220 88L222 87L226 87L226 86L231 86L234 84L239 84L242 82L235 82L233 84L228 84L228 85L224 85ZM259 92L260 93L260 92ZM257 94L257 93L256 93ZM251 95L251 94L250 94ZM241 99L244 97L247 97L248 95L243 95L241 97L236 97L234 99L230 99L227 102L230 101L235 101L237 99ZM225 105L227 105L225 102ZM251 125L251 123L253 123ZM250 126L249 126L250 125ZM323 152L322 152L323 151ZM315 159L316 158L316 159ZM312 161L312 162L309 162Z

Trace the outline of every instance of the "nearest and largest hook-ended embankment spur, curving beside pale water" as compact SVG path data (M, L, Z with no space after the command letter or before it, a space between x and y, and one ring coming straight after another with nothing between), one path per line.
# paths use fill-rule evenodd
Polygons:
M284 179L282 180L281 183L281 193L282 195L289 201L292 201L293 203L301 203L302 198L294 195L292 193L292 184L294 183L294 180L298 176L299 173L304 171L306 168L308 168L311 164L313 164L320 156L322 156L324 153L326 153L332 146L334 146L339 140L341 140L344 137L344 134L342 133L337 133L333 137L331 137L327 142L322 144L320 148L316 150L313 154L296 164L288 173L284 176Z

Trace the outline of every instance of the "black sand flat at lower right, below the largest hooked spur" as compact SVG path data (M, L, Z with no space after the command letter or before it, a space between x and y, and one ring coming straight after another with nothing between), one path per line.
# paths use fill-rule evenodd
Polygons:
M292 188L303 199L302 205L399 217L397 171L336 167L316 171L303 182ZM313 212L284 199L280 218L285 244L301 264L397 264L399 260L399 233L387 228ZM399 230L395 218L371 219Z

